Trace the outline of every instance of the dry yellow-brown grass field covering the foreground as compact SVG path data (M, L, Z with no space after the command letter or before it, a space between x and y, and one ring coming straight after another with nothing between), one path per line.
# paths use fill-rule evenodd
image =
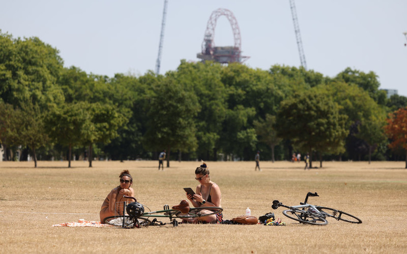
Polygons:
M199 162L156 161L0 162L0 252L2 253L403 253L407 249L407 170L404 162L324 162L304 171L304 163L208 162L211 180L222 192L224 219L274 212L287 225L172 225L141 229L52 227L99 220L100 206L129 169L138 201L152 210L179 204L183 187L197 185ZM318 165L316 163L314 166ZM272 210L278 199L351 213L362 224L328 219L326 226L299 224ZM163 218L169 222L168 218ZM167 220L167 221L166 221Z

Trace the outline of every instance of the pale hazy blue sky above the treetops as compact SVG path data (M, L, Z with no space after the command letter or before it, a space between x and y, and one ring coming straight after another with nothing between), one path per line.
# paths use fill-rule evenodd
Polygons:
M380 89L407 97L407 1L297 0L307 69L335 77L350 67L374 72ZM164 0L0 0L0 29L13 38L38 37L60 51L64 66L113 77L155 71ZM268 70L301 65L288 0L168 0L160 74L182 59L199 61L208 20L231 11L238 22L244 64ZM225 16L215 45L234 45Z

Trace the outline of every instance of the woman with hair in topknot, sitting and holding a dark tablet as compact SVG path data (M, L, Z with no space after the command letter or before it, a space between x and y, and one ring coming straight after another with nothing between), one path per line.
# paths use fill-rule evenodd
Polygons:
M211 181L209 177L209 168L205 162L202 162L200 167L195 170L195 179L199 182L196 186L195 195L187 194L187 198L191 201L194 207L221 207L221 193L218 184ZM208 210L208 213L211 211ZM197 217L189 222L197 223L220 223L223 219L222 213L217 213L209 216Z

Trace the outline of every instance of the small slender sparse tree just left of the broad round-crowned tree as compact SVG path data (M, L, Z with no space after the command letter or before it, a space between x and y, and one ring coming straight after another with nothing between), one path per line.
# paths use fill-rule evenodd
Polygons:
M281 138L277 137L277 132L274 129L276 123L276 116L266 114L266 119L255 120L253 122L254 129L258 136L260 136L260 141L266 143L271 148L271 158L274 163L274 147L281 142Z

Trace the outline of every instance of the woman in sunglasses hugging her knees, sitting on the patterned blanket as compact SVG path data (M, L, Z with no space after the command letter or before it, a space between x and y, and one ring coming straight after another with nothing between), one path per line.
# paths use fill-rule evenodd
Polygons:
M104 218L108 216L119 215L115 214L115 211L123 211L123 204L121 204L119 207L115 207L118 202L133 202L132 199L123 198L123 196L134 197L134 189L130 187L133 184L133 177L130 175L128 170L123 170L119 177L120 185L110 191L105 201L103 201L102 207L100 208L99 214L101 223L104 223Z

